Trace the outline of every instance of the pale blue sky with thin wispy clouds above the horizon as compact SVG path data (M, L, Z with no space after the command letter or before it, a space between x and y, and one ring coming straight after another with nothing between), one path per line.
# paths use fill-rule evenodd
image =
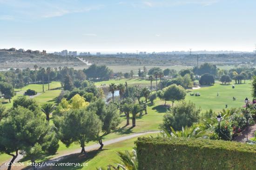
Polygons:
M253 51L255 6L256 0L0 0L0 48Z

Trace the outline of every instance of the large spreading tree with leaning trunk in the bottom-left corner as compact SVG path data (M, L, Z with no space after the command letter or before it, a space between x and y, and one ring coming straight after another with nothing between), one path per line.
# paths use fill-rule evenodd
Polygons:
M56 152L59 145L53 129L37 111L20 106L10 109L0 121L0 151L13 157L8 170L17 158L18 151L28 154L28 147L41 145L42 151Z

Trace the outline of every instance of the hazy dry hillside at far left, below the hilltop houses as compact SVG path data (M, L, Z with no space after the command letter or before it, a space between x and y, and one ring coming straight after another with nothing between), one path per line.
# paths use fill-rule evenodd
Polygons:
M9 68L33 68L34 65L39 67L74 67L86 66L79 59L75 57L62 57L52 54L40 54L18 51L3 51L0 50L0 69Z

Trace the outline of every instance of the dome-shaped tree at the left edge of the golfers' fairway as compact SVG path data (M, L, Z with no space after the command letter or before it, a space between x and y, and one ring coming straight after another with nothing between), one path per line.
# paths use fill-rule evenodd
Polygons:
M159 98L166 101L172 101L172 107L175 101L180 101L185 98L186 91L181 86L177 86L176 84L172 84L162 90L162 92L158 93Z

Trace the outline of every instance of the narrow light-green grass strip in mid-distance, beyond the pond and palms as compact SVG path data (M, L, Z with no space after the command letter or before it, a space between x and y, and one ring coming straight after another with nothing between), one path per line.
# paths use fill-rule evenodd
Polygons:
M106 84L106 85L109 85L111 83L115 83L115 84L123 83L123 84L125 84L125 82L127 82L127 84L136 84L136 85L146 84L146 85L150 86L150 81L149 80L142 80L142 79L139 79L139 78L134 78L134 79L125 79L125 78L123 78L123 79L111 79L111 80L108 80L108 81L94 82L94 84L96 86L101 86L101 84ZM155 81L152 81L152 86L155 86Z

